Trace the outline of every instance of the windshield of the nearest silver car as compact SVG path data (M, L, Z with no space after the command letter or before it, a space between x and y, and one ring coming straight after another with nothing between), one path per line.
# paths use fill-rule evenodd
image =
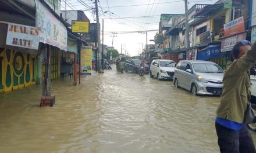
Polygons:
M221 67L218 64L212 63L197 63L193 64L195 72L198 73L223 73Z

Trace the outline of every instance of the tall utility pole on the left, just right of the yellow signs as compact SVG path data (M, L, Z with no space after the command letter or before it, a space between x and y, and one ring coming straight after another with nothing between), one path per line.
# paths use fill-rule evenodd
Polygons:
M101 52L100 52L100 44L101 44L101 27L100 27L100 24L99 24L99 11L98 11L98 1L95 0L95 12L96 12L96 20L97 20L97 52L98 52L98 57L99 57L99 60L98 60L98 65L99 65L99 70L102 71L102 68L101 68Z

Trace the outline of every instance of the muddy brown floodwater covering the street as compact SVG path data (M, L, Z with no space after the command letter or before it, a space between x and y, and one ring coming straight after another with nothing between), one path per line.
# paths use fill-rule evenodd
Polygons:
M218 152L219 97L115 70L52 93L54 107L38 107L41 86L0 94L0 152Z

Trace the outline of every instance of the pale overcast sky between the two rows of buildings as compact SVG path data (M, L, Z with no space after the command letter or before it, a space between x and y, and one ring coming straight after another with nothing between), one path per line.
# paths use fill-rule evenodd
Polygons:
M81 5L79 1L83 1L91 8L95 7L94 3L91 0L66 0L66 10L87 10L84 11L84 13L90 19L91 23L96 22L95 14L93 14L91 10L88 11L88 6L86 7L84 5ZM213 4L216 1L218 0L189 0L189 8L195 5L195 3ZM115 7L127 5L140 6L118 8ZM62 0L62 10L65 10L64 6L65 0ZM104 13L106 11L109 12ZM111 32L122 33L123 31L158 30L161 14L180 14L184 12L184 1L181 0L99 0L99 19L101 25L102 19L104 19L104 44L112 46L112 37L111 35L109 35ZM112 19L117 17L138 18ZM154 43L150 42L150 39L154 39L154 35L156 32L157 31L148 32L148 44ZM145 45L145 34L116 34L116 37L114 37L113 46L115 47L115 49L118 49L120 53L121 44L125 44L125 47L123 47L123 53L125 52L124 50L126 50L131 56L136 56L138 55L139 50L142 51L142 44L138 43L144 43Z

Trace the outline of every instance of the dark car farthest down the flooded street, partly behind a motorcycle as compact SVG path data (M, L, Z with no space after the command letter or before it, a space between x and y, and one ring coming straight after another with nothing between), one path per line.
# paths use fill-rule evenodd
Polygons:
M131 59L131 60L126 60L125 61L125 72L133 72L135 74L138 73L138 67L141 64L141 60L138 59ZM150 67L145 64L145 70L146 74L150 72Z

